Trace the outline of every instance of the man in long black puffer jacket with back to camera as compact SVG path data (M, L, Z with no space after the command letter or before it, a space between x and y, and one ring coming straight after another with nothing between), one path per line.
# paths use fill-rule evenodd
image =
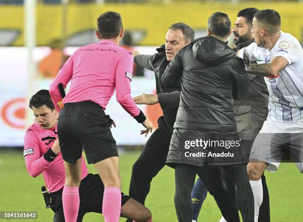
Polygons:
M243 60L225 43L230 27L227 14L213 13L208 19L208 36L183 47L161 78L164 87L182 78L180 104L166 160L167 165L175 168L179 222L192 220L191 190L196 174L214 196L226 221L240 222L235 195L224 189L219 169L220 166L229 169L236 181L239 172L246 171L247 162L237 134L232 99L248 95L249 81ZM253 201L250 192L248 201Z

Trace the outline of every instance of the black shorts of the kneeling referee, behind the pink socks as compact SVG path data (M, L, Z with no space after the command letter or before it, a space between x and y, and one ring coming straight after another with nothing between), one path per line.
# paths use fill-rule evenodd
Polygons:
M102 213L104 185L98 174L88 174L86 178L81 180L79 187L80 206L77 222L82 222L86 213L95 212ZM62 190L50 193L51 210L55 213L53 222L64 222ZM121 193L121 206L128 200L129 196Z

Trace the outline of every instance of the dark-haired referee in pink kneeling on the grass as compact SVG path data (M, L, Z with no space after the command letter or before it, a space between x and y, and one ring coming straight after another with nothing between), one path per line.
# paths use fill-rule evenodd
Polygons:
M57 133L57 112L46 89L39 90L30 99L29 107L35 115L35 123L27 128L24 136L26 169L33 178L43 174L50 192L48 207L54 212L53 222L65 222L62 206L62 190L65 182L64 164ZM86 213L102 213L104 185L98 174L88 172L81 158L80 206L77 222ZM121 217L136 222L151 222L151 212L145 206L121 193Z

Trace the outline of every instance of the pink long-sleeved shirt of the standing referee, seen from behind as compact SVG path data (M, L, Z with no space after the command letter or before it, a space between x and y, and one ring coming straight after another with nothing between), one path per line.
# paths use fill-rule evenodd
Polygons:
M132 116L140 110L131 96L133 55L110 40L101 40L76 50L61 67L50 85L50 96L56 106L61 101L58 84L64 88L71 81L63 103L93 101L104 110L116 89L116 99Z

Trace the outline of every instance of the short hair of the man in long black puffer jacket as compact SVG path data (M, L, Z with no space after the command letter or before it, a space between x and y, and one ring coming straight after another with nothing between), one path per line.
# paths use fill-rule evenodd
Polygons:
M227 14L217 11L209 16L207 26L211 34L226 37L230 32L231 22Z

